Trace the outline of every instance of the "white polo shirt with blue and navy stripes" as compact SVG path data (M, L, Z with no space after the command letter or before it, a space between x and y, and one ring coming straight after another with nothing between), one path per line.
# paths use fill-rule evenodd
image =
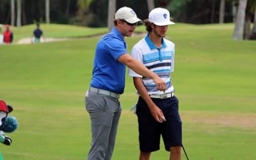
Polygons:
M175 45L173 42L162 39L162 47L156 47L150 40L148 35L140 40L132 48L131 56L140 61L147 67L156 73L166 83L166 92L174 92L174 88L171 81L171 72L174 71L174 55ZM157 86L152 79L143 77L137 74L129 68L128 75L131 77L141 77L144 86L147 88L148 94L163 94L163 91L157 90Z

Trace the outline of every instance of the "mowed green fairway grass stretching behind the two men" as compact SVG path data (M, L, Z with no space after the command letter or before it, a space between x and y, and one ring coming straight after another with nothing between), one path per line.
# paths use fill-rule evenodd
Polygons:
M45 35L54 36L54 29ZM168 30L176 45L172 81L191 160L256 159L256 42L232 41L233 29L233 24L176 24ZM79 34L86 35L83 29ZM17 131L7 134L12 145L1 145L4 159L86 159L91 134L84 93L99 38L0 45L0 99L13 106L10 115L19 120ZM141 38L127 38L128 51ZM113 160L138 159L138 124L129 111L136 100L127 76ZM161 143L152 159L168 156Z

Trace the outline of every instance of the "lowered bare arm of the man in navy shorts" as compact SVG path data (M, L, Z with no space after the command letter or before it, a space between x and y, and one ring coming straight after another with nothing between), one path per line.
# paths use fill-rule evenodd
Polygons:
M164 121L166 121L165 118L164 118L164 114L161 111L161 109L159 109L156 106L156 104L154 104L152 99L149 97L147 89L143 85L143 81L142 81L141 77L133 77L133 83L134 83L134 86L135 86L136 90L140 94L140 96L147 103L148 108L151 112L151 115L156 119L156 121L159 122L159 123L163 123Z

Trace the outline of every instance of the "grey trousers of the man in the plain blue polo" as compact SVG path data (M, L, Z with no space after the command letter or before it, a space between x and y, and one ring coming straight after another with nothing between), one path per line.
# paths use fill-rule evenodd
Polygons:
M110 160L122 112L120 102L109 95L89 91L86 93L85 104L90 114L92 131L88 160Z

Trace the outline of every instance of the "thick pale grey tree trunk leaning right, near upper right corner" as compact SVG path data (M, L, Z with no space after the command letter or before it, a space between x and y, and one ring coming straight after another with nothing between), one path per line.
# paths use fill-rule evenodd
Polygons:
M243 40L246 4L247 0L239 0L233 40Z

